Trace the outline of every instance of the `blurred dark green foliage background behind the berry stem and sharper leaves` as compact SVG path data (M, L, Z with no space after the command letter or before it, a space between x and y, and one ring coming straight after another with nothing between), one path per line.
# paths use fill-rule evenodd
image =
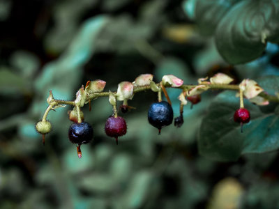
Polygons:
M82 159L68 140L70 107L49 114L45 146L34 129L50 90L74 100L88 80L116 91L144 73L156 82L173 74L185 84L216 72L236 83L279 75L278 45L230 66L195 29L193 10L181 0L0 0L0 208L279 208L277 152L237 162L199 155L199 125L218 91L186 105L183 126L164 127L160 136L147 122L156 93L137 93L129 101L136 109L119 113L128 132L118 146L104 132L110 103L93 100L90 112L82 109L94 131ZM168 93L179 116L180 91Z

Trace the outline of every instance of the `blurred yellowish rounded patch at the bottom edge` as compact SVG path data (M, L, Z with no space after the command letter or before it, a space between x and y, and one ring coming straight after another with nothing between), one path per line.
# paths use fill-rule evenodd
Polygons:
M220 180L213 188L207 209L240 208L243 187L235 178Z

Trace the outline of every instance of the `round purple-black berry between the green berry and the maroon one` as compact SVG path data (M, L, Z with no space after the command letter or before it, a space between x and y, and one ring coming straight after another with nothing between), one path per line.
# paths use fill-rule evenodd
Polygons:
M93 137L93 129L87 122L73 123L69 127L68 137L73 144L87 144Z

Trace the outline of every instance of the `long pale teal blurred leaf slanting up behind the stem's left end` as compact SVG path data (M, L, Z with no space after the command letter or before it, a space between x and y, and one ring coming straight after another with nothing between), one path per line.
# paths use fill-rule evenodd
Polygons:
M89 61L95 52L96 39L108 21L108 17L105 15L86 20L66 52L56 61L45 65L42 74L35 81L37 96L33 102L33 107L31 107L34 115L41 115L45 110L47 104L45 100L48 98L50 90L52 90L54 98L63 100L74 98L73 92L76 91L77 84L80 84L82 78L82 66ZM57 111L52 120L55 122L65 121L66 111L67 109ZM58 113L61 115L60 117ZM61 127L66 125L66 123L59 124Z

